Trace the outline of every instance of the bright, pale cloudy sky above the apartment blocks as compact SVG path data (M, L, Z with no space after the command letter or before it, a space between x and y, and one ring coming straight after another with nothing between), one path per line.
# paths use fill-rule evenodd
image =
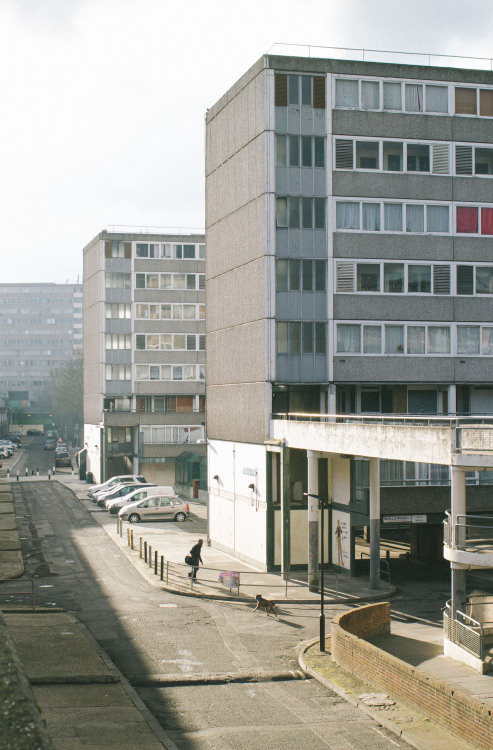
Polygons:
M102 229L202 231L205 113L266 52L492 39L493 0L0 0L0 280L82 282Z

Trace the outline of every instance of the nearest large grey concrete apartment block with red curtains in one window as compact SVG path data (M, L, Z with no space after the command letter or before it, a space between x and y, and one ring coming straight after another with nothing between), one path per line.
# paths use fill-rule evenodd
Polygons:
M210 537L271 567L308 472L272 414L493 413L493 74L266 55L206 122ZM368 462L343 464L364 526ZM448 467L380 479L440 549ZM468 482L484 508L491 472Z

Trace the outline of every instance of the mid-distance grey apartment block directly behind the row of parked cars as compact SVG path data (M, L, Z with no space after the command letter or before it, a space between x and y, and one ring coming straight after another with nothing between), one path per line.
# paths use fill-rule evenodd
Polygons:
M84 248L84 447L95 481L138 472L172 485L178 466L198 491L204 257L199 234L102 231Z

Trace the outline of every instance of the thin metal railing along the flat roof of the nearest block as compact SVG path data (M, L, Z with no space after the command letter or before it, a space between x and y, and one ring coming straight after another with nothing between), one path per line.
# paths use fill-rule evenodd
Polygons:
M279 51L277 48L280 48ZM332 57L341 60L361 60L361 62L404 62L406 59L410 59L413 65L435 65L437 67L451 67L451 61L459 61L460 67L472 67L466 65L466 62L474 63L474 67L479 70L488 69L493 70L493 59L491 57L476 57L474 55L444 55L434 52L403 52L400 50L385 50L385 49L368 49L362 47L327 47L321 44L296 44L289 42L276 42L272 47L267 50L266 54L277 54L281 55L282 50L296 50L297 56L300 56L298 50L307 50L307 56L312 57ZM314 54L316 50L320 50L318 54ZM333 53L336 53L335 55ZM356 53L356 54L355 54ZM286 52L284 52L286 54ZM305 53L306 54L306 53ZM357 55L357 56L356 56ZM377 56L377 57L375 57ZM386 59L382 59L384 57ZM393 58L389 60L388 58ZM418 61L419 58L419 61ZM432 62L436 61L436 62ZM408 63L409 64L409 63ZM455 65L457 63L454 63ZM478 67L479 66L479 67Z

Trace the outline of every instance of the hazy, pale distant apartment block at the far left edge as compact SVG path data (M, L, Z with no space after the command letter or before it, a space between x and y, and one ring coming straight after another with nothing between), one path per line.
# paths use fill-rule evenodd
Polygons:
M0 398L36 409L82 348L82 284L0 284Z

